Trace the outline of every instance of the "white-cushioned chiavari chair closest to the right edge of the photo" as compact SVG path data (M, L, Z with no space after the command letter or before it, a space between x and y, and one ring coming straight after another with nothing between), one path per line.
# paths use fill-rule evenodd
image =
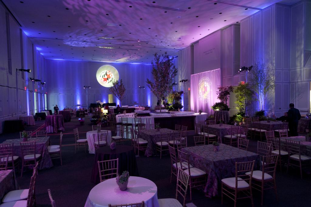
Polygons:
M302 179L302 169L311 164L311 157L301 154L300 141L286 139L286 148L288 150L287 172L289 166L299 167L300 177Z

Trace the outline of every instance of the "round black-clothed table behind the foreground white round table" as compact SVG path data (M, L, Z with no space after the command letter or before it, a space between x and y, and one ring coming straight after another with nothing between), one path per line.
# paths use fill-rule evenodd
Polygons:
M110 149L110 146L100 147L96 149L91 181L99 183L99 171L97 161L105 161L119 159L118 174L128 171L130 176L138 176L138 168L136 155L132 146L117 145L115 149ZM108 178L111 178L108 177Z

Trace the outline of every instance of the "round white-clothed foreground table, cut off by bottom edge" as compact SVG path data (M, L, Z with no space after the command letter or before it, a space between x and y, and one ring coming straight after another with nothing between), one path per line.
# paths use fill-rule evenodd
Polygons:
M84 207L108 207L108 204L128 204L145 201L146 207L159 207L157 186L154 182L130 176L128 189L120 191L116 178L111 178L96 185L90 191Z

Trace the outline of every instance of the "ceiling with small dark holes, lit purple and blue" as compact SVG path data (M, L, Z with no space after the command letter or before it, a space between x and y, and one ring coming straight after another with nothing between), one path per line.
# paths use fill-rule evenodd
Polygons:
M3 2L46 59L150 64L280 0Z

